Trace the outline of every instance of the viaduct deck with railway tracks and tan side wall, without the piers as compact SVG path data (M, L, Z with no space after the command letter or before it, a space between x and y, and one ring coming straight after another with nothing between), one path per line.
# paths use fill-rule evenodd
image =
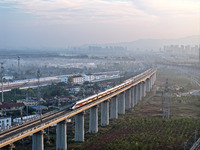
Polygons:
M38 131L41 131L55 123L58 123L64 119L67 119L69 117L72 117L82 111L85 111L95 105L100 104L101 102L112 98L113 96L116 96L123 91L126 91L127 89L131 88L132 86L143 82L146 80L146 78L149 78L153 73L155 72L154 69L149 69L148 71L145 71L133 78L128 79L127 81L131 84L127 84L127 86L115 90L113 93L108 93L102 98L97 97L97 100L91 103L88 103L87 105L83 105L80 108L77 108L73 111L69 110L69 106L63 107L58 111L52 111L49 113L46 113L44 115L38 116L34 119L28 120L26 122L20 123L18 125L12 126L11 128L1 130L0 131L0 148L3 146L6 146L10 143L13 143L19 139L22 139L24 137L27 137L33 133L36 133ZM133 82L134 80L134 82Z

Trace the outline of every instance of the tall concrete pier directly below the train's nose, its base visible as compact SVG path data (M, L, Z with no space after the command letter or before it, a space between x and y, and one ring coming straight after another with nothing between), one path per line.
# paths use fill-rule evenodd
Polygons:
M84 142L84 112L75 116L75 141Z

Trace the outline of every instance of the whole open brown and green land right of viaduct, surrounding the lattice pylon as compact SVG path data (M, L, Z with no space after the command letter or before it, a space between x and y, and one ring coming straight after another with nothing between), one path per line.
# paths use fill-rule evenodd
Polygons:
M162 92L166 79L169 85L170 119L162 119ZM99 127L96 135L86 134L86 142L69 145L69 149L123 149L123 150L183 150L190 149L194 132L200 137L200 96L177 97L178 92L199 89L190 81L188 74L176 69L158 70L152 93L126 111L119 119L110 122L107 128ZM178 90L177 90L178 88Z

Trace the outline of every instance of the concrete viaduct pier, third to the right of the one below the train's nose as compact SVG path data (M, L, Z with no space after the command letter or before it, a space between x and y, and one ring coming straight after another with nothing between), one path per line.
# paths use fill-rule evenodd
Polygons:
M110 101L110 119L118 118L118 96L115 96Z

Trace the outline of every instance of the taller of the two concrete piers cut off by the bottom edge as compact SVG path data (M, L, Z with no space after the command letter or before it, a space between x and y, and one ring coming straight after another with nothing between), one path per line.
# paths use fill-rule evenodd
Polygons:
M57 123L56 150L67 150L67 121Z

